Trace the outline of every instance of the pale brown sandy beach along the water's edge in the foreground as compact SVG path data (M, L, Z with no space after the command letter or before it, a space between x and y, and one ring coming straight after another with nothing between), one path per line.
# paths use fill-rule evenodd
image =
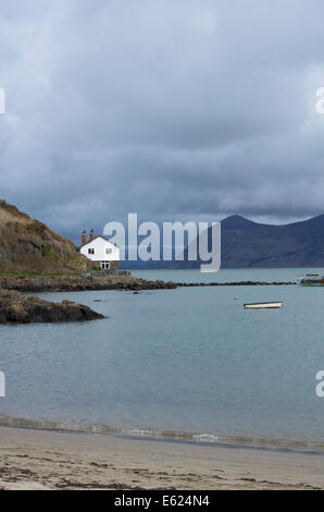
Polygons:
M324 456L0 427L0 489L314 489Z

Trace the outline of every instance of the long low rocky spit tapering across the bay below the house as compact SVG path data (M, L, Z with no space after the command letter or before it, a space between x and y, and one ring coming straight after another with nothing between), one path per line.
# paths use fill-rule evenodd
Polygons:
M294 281L235 281L235 282L173 282L149 281L133 276L40 276L40 277L0 277L0 290L15 290L20 292L79 292L99 290L174 290L182 287L267 287L292 285Z

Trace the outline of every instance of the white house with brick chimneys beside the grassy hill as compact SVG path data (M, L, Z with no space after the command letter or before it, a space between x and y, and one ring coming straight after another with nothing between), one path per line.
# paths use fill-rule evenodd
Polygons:
M90 240L86 242L86 233L84 231L82 239L80 254L97 261L103 270L117 270L120 266L120 248L104 236L98 235L94 237L94 231L90 231Z

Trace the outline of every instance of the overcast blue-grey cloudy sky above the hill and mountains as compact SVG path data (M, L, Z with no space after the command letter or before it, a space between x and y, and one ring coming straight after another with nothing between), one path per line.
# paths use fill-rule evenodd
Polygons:
M0 197L77 240L324 214L323 0L2 0Z

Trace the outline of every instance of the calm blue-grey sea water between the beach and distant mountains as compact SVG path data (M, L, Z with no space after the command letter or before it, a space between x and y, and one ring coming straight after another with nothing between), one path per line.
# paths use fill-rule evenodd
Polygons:
M303 272L134 273L174 281L272 281L295 280ZM41 296L83 302L109 318L1 326L3 422L11 417L98 431L187 432L198 436L194 439L324 450L324 399L315 394L315 374L324 369L324 288L211 287ZM273 300L284 301L283 308L253 312L242 306Z

